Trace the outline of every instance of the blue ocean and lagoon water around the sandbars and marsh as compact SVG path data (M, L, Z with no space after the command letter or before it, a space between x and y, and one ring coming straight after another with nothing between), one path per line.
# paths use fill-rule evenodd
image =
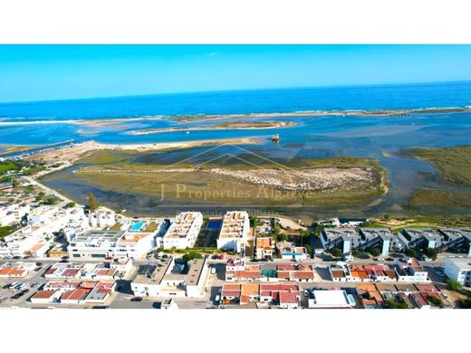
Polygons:
M390 188L385 202L378 206L342 210L344 215L399 212L415 190L423 188L457 189L437 175L428 162L404 156L407 148L434 148L471 144L470 112L435 112L404 116L290 116L290 112L313 110L399 110L471 106L471 82L408 85L303 88L263 91L218 91L165 94L91 100L58 100L0 104L0 148L2 145L47 145L66 140L102 143L158 143L222 138L257 138L258 145L245 146L278 160L295 157L338 156L378 158L388 171ZM261 113L244 120L281 120L295 125L280 129L191 130L235 119L231 114ZM267 114L264 117L264 113ZM270 116L269 113L288 113ZM187 115L228 115L215 121L179 122L168 117ZM160 119L131 119L161 117ZM122 118L116 122L106 119ZM103 119L103 124L87 120ZM80 120L80 121L78 121ZM99 121L100 122L100 121ZM183 128L149 135L133 135L139 129ZM271 136L280 134L280 142ZM207 147L170 152L149 152L137 163L175 161L194 156ZM230 147L227 147L230 148ZM220 153L236 153L218 149ZM64 170L63 173L69 173ZM76 180L49 182L66 195L83 199L91 186ZM108 205L117 197L130 198L121 205L139 213L150 212L145 197L116 196L93 190ZM464 189L457 191L467 192ZM120 201L120 202L121 202ZM152 211L153 212L153 211ZM339 210L335 210L336 213ZM332 214L333 215L333 214Z

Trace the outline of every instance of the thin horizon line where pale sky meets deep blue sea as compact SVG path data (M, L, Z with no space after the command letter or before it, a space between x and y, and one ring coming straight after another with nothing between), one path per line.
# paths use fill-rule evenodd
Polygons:
M204 90L204 91L175 91L175 92L160 92L160 93L136 93L136 94L123 94L123 95L105 95L105 96L92 96L92 97L75 97L51 100L10 100L0 101L0 105L7 104L28 104L28 103L43 103L55 101L68 101L68 100L106 100L106 99L120 99L127 97L146 97L146 96L166 96L166 95L179 95L179 94L198 94L198 93L220 93L220 92L236 92L236 91L276 91L276 90L308 90L308 89L324 89L324 88L347 88L347 87L370 87L370 86L404 86L404 85L421 85L421 84L439 84L439 83L460 83L471 82L471 79L455 80L455 81L421 81L421 82L399 82L399 83L360 83L360 84L334 84L323 86L289 86L289 87L272 87L272 88L253 88L253 89L230 89L230 90Z

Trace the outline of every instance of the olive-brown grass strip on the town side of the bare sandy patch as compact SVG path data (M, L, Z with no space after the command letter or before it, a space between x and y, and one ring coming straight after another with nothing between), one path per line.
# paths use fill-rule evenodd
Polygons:
M119 190L156 196L159 200L191 201L194 204L217 205L340 205L359 203L381 196L378 187L361 190L338 189L324 192L289 192L269 186L259 186L232 176L209 173L77 173L81 182L100 186L103 190Z

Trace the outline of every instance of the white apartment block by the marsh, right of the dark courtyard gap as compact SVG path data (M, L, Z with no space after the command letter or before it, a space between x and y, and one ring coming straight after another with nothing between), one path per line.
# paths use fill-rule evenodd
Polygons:
M249 239L250 221L245 211L229 211L223 217L223 224L217 248L232 250L245 256L245 244Z

